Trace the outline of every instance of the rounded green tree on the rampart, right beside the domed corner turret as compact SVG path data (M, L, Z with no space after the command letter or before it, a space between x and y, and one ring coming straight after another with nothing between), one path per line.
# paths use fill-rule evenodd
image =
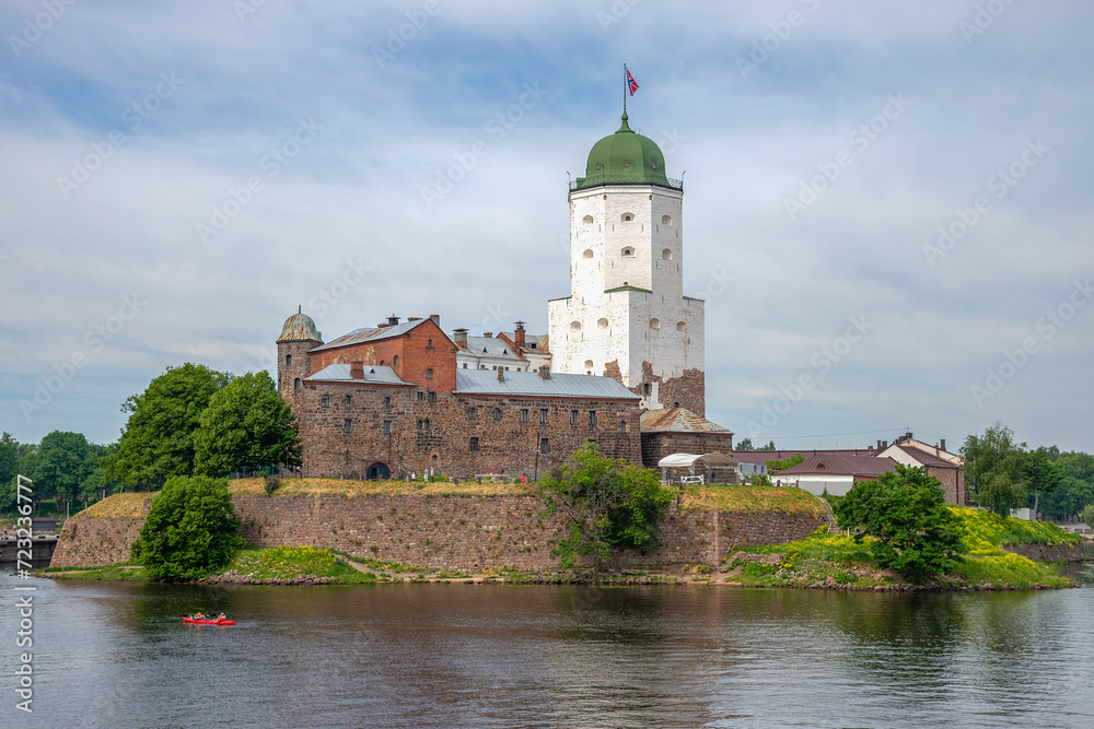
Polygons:
M223 475L240 466L299 466L296 421L265 371L236 377L209 399L194 435L195 471Z

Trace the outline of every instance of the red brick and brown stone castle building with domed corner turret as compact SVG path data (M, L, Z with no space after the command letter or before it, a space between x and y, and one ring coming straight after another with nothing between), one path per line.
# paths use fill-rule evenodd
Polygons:
M278 338L278 387L296 415L303 472L458 479L536 475L589 440L641 462L640 398L608 377L457 369L439 317L395 317L323 343L302 313Z

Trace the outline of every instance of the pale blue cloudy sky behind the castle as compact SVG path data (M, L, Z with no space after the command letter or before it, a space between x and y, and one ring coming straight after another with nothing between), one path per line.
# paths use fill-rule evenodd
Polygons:
M325 340L545 333L626 62L684 179L708 419L1094 451L1092 26L1079 0L9 0L0 428L113 442L170 366L272 371L298 306Z

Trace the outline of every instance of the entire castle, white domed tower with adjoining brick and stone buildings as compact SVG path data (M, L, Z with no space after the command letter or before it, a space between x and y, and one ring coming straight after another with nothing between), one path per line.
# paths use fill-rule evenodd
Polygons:
M703 415L703 302L683 294L684 186L628 126L570 183L570 285L546 337L450 338L440 317L389 317L324 342L302 311L278 345L278 388L311 477L466 479L550 471L586 442L656 466L732 452Z

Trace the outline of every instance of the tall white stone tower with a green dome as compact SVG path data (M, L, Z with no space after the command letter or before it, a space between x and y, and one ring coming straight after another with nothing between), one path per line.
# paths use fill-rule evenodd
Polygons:
M705 415L703 302L684 296L684 185L627 118L570 183L570 296L548 304L552 366L615 377L648 410Z

